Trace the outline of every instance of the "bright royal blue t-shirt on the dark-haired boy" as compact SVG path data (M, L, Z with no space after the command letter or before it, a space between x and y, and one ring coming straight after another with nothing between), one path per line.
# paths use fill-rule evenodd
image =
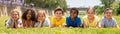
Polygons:
M78 27L78 26L80 26L82 23L81 23L80 17L77 16L77 17L75 18L75 20L72 21L71 17L68 16L68 17L66 18L66 24L67 24L67 27L70 27L70 26L72 26L72 27Z

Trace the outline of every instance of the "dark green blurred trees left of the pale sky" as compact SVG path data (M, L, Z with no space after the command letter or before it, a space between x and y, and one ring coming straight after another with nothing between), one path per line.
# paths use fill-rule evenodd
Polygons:
M36 7L55 9L60 6L61 8L66 8L65 0L25 0L25 3L34 3Z

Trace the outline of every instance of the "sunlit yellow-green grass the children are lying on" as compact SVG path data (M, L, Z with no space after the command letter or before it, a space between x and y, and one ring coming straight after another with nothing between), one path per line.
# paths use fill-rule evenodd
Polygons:
M113 16L120 26L120 17ZM101 18L101 16L100 16ZM0 34L120 34L120 28L18 28L7 29L5 27L5 20L9 19L7 16L0 17Z

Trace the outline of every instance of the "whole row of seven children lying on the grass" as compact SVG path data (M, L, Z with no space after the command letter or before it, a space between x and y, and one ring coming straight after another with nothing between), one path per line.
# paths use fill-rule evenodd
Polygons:
M10 12L10 19L6 21L7 28L28 28L28 27L118 27L115 19L112 17L112 9L106 8L101 20L95 15L95 9L87 9L86 15L80 19L79 11L76 8L70 9L70 16L65 17L61 8L54 10L54 16L48 18L45 11L38 11L37 15L34 10L27 9L22 14L22 21L19 18L17 9ZM49 20L50 19L50 20Z

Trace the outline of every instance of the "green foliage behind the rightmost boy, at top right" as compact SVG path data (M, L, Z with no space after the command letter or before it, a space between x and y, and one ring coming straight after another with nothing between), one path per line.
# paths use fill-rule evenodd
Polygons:
M103 14L105 8L113 9L113 15L120 14L120 0L101 0L103 6L96 5L97 14Z

